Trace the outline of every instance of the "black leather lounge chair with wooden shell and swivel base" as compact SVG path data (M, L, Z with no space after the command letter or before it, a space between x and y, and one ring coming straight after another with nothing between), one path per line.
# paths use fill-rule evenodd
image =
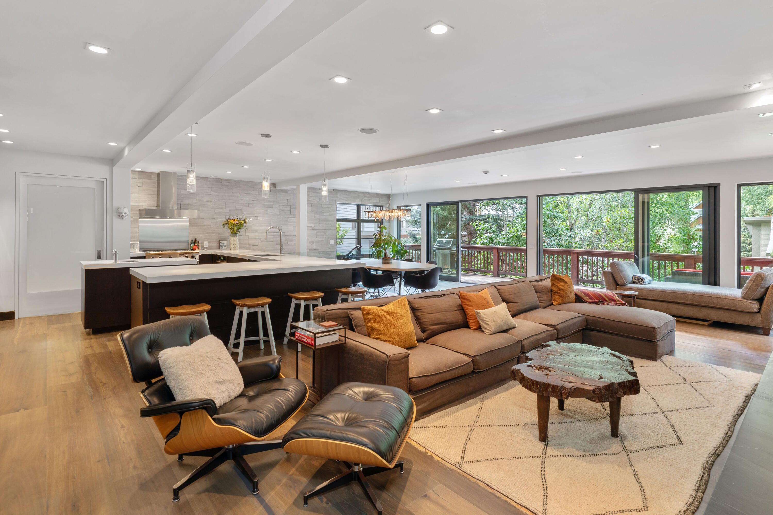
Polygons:
M172 487L174 502L179 500L180 490L229 460L252 483L252 493L257 493L257 476L243 456L280 448L281 440L265 438L295 415L308 398L303 381L281 377L280 356L265 356L237 364L244 390L220 408L208 398L176 400L161 377L158 353L190 345L208 334L201 317L171 318L118 334L132 381L147 385L140 393L146 404L140 416L153 418L166 440L164 452L176 454L177 461L182 461L182 456L209 456L206 463Z

